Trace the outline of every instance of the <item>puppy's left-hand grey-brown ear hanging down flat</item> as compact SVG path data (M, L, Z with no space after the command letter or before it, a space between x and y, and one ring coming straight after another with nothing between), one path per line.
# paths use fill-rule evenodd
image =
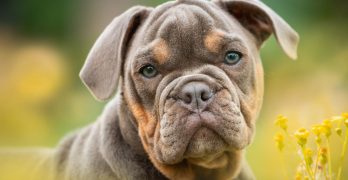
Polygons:
M116 17L90 50L80 78L98 100L110 99L118 85L129 42L151 8L136 6Z

